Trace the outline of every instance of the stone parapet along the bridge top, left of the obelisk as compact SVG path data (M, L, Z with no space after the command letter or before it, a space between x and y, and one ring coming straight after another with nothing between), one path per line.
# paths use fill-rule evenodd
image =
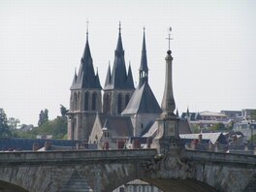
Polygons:
M156 149L114 149L114 150L71 150L71 151L40 151L40 152L0 152L0 166L3 164L56 163L78 161L124 161L153 159Z

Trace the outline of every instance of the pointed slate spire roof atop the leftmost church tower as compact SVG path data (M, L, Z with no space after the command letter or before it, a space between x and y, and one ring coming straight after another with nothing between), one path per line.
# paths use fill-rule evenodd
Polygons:
M73 83L70 87L71 90L80 88L102 89L98 72L96 73L96 75L94 72L93 61L88 42L88 34L86 37L85 48L80 59L79 74L77 75L77 73L75 72Z

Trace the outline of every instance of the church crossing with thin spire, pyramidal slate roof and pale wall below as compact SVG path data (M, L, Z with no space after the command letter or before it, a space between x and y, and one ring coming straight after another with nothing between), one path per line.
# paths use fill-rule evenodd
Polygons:
M162 110L148 84L148 68L144 37L141 66L139 69L139 85L122 114L130 116L134 126L134 136L142 137L144 133L148 131L155 119L159 117L161 112Z

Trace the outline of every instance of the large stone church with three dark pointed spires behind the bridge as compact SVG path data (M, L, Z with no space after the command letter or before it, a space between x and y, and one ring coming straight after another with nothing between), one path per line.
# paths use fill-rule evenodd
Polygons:
M148 83L145 33L138 87L134 86L131 65L126 68L119 23L112 69L109 66L104 86L94 71L87 29L80 69L78 74L75 72L70 90L69 140L116 148L131 138L155 136L156 119L163 110ZM187 120L178 121L178 125L179 132L191 133Z

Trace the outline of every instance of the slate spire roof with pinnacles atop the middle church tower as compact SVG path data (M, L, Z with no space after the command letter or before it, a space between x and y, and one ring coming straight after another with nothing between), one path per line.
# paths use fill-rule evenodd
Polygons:
M128 74L126 72L124 50L122 46L121 32L119 28L119 35L117 40L117 46L114 51L114 61L112 66L112 73L109 67L107 72L107 78L105 81L104 90L110 89L134 89L134 81L132 71L129 66Z

